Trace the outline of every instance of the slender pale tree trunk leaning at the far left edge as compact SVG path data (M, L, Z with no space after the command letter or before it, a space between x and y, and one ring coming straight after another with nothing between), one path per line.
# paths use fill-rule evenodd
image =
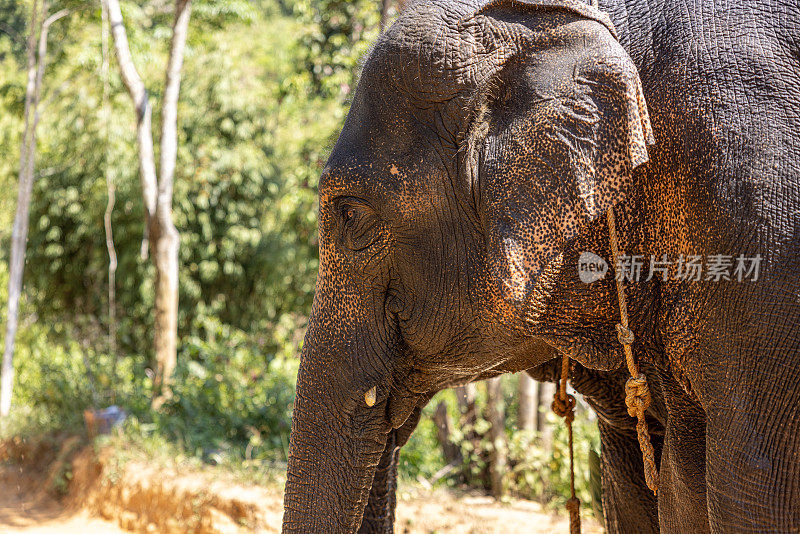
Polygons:
M17 336L19 299L22 294L22 275L25 270L25 250L28 242L28 223L33 192L33 177L36 161L36 126L39 124L39 99L47 62L47 34L50 25L65 17L69 11L61 10L47 17L47 0L42 0L42 13L38 16L39 2L34 1L31 11L31 27L28 34L28 83L25 88L25 130L19 155L19 190L17 210L11 234L11 259L8 276L8 312L6 315L6 338L3 348L2 379L0 380L0 417L11 411L14 387L14 341ZM36 44L36 21L39 27L38 57Z

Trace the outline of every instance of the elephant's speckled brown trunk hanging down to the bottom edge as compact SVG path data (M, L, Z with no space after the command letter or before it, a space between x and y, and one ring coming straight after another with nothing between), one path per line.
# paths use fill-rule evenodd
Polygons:
M358 531L391 430L385 402L337 379L326 358L304 348L292 417L284 533Z

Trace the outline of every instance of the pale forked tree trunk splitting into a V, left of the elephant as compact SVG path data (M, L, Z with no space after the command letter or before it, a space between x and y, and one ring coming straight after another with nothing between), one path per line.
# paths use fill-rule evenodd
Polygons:
M149 239L153 263L156 267L154 334L156 372L153 380L153 407L157 408L171 394L170 381L177 363L180 236L172 222L172 192L178 154L178 97L192 1L177 0L175 2L175 19L172 24L164 99L161 103L160 175L156 174L153 155L150 99L131 57L119 0L104 1L108 9L111 35L122 81L136 106L139 167L146 228L142 251L143 255L146 255L147 240Z

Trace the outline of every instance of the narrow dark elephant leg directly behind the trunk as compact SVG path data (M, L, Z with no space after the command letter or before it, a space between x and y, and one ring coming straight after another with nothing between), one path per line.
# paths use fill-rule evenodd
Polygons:
M391 534L394 532L394 510L397 506L397 466L400 459L400 448L405 445L411 433L419 423L422 407L428 400L414 410L406 423L392 430L386 441L386 448L381 455L375 476L372 479L372 489L369 492L369 501L364 509L364 518L361 520L359 534Z

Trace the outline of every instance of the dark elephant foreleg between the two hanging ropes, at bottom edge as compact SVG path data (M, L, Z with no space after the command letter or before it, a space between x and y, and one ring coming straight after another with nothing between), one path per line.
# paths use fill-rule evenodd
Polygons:
M603 515L612 534L659 532L656 497L644 481L636 432L599 421L602 445ZM653 447L661 446L652 436Z

